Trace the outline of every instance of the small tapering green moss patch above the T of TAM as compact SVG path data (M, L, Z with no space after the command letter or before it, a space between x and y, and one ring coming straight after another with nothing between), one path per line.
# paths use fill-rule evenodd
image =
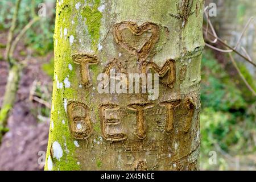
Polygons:
M92 0L88 1L91 6L85 6L82 11L82 16L86 19L85 24L88 27L88 32L92 39L92 47L97 48L98 40L100 39L100 26L102 14L98 10L100 6L100 0L95 0L94 4Z

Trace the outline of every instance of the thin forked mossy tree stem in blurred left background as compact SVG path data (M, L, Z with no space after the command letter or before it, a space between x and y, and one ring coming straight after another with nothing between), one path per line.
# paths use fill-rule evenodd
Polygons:
M35 15L30 20L30 22L28 22L28 24L24 26L22 30L20 30L20 32L15 36L15 28L17 27L17 17L20 9L20 2L21 0L17 0L15 3L13 19L11 21L11 27L6 43L5 60L7 63L9 63L9 76L5 88L5 96L3 97L3 104L0 110L0 143L2 136L8 131L6 128L7 120L10 110L13 108L15 103L16 93L20 81L20 73L22 72L24 65L26 65L26 61L15 59L14 52L20 39L23 38L27 30L29 30L31 26L39 20L39 17Z

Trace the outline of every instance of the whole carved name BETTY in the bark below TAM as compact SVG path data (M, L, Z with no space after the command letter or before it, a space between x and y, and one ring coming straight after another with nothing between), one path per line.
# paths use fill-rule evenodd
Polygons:
M166 133L173 132L174 129L174 116L175 108L183 104L187 109L187 117L185 117L185 125L183 131L187 133L191 128L193 114L195 113L195 102L191 97L187 97L184 100L176 99L171 101L160 102L159 106L166 108ZM152 103L135 103L126 106L127 110L133 110L136 113L136 128L134 135L138 139L146 138L147 122L145 119L145 111L155 107ZM68 102L68 118L69 118L69 130L72 137L76 139L86 139L92 134L92 124L89 118L89 107L80 102ZM122 133L122 118L119 105L115 104L102 104L100 109L100 123L102 137L108 141L121 141L127 138L125 133Z

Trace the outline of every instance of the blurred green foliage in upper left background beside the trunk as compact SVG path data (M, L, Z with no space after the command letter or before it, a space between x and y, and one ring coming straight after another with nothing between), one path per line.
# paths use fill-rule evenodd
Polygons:
M0 30L7 30L10 28L15 2L16 0L0 1ZM55 3L54 0L47 0L46 2ZM40 9L40 3L42 3L42 0L23 0L20 3L18 26L15 28L16 32L20 31L22 27L26 26L30 19L37 15L38 10ZM29 46L34 54L41 56L53 50L52 37L55 22L54 14L54 8L47 9L47 16L40 18L40 21L34 24L34 28L31 28L26 33L24 45Z

